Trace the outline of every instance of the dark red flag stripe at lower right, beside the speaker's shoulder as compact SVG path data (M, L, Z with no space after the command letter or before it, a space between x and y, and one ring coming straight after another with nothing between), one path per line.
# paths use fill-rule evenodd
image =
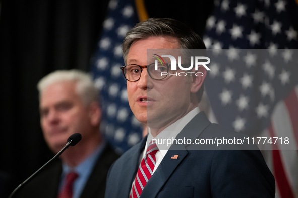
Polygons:
M268 128L271 137L276 137L272 128L272 125ZM277 145L273 145L272 157L273 157L273 167L274 176L277 183L279 194L281 198L294 198L294 193L289 185L289 182L284 171L284 167L281 161L280 152Z

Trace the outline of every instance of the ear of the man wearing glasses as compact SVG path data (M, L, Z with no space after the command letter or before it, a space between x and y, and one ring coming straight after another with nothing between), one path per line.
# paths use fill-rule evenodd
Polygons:
M198 66L198 70L192 70L192 82L191 82L191 93L196 93L201 88L203 81L206 77L206 69L203 65Z

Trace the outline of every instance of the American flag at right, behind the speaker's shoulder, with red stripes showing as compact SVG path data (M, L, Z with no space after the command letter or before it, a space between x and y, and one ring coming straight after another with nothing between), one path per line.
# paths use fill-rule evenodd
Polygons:
M218 123L251 136L286 136L296 148L261 148L271 149L263 154L282 198L298 197L297 19L294 0L215 1L204 36L213 49L205 86Z

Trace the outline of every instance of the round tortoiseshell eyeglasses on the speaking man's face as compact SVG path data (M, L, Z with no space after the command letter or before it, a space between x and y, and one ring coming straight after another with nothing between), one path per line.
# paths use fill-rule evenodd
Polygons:
M141 78L141 73L143 68L147 68L147 72L149 76L154 80L163 80L168 75L170 64L157 64L157 68L155 68L155 63L151 63L150 65L136 65L136 64L128 64L120 67L123 72L123 75L127 81L136 82Z

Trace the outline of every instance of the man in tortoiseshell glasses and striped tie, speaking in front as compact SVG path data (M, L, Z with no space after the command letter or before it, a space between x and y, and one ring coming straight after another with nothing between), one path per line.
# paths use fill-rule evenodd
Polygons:
M182 65L174 70L168 55L187 62L185 53L171 50L179 48L205 45L189 27L172 19L148 19L126 35L126 66L121 69L128 100L149 133L111 166L105 197L274 197L274 177L257 147L197 145L197 140L214 137L246 137L211 124L200 112L206 69L199 65L187 75Z

